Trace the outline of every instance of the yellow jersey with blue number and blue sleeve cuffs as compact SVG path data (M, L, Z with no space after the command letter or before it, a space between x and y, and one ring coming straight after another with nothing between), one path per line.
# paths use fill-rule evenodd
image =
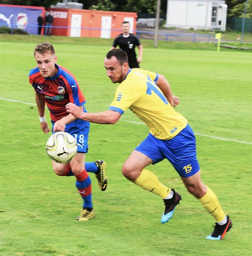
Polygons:
M141 68L129 69L118 85L109 109L121 114L129 108L160 140L169 140L187 125L187 119L177 113L156 85L158 74Z

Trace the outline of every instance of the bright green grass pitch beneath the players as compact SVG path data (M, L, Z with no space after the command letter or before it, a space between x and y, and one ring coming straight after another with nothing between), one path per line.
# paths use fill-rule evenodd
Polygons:
M160 223L162 199L121 174L127 156L149 132L145 125L131 123L141 121L129 110L115 125L91 124L86 161L104 159L109 184L100 191L90 174L95 217L75 220L82 205L75 179L54 174L45 151L49 135L40 130L36 106L24 104L35 103L28 72L35 67L35 44L45 40L54 44L58 64L76 76L89 112L106 110L117 86L103 67L111 40L2 37L0 255L251 255L251 52L143 44L141 68L165 75L180 98L176 110L196 133L202 180L233 220L223 240L209 241L204 237L213 230L214 219L187 192L168 161L148 167L183 198L166 224ZM46 117L50 120L48 111Z

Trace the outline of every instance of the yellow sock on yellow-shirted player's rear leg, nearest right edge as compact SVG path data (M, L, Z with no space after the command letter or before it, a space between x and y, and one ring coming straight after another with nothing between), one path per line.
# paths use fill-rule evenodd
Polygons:
M214 217L216 222L224 220L225 212L222 210L218 198L211 188L207 187L207 193L199 200L203 207Z

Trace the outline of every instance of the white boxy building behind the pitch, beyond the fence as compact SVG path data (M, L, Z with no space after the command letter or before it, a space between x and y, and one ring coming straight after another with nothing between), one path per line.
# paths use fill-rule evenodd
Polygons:
M167 0L165 27L226 30L222 0Z

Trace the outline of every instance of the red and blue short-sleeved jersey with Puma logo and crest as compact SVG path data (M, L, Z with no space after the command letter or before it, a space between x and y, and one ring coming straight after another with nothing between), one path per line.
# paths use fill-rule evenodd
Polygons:
M52 121L67 116L65 105L69 102L81 106L86 103L76 78L66 68L55 64L58 72L53 77L43 77L39 68L31 69L29 82L40 93L50 111Z

